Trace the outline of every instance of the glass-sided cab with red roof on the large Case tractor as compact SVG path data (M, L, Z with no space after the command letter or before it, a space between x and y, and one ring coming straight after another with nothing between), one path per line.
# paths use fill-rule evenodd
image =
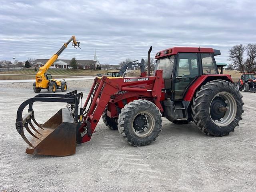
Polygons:
M155 70L163 70L165 90L172 100L183 100L191 84L202 75L217 75L212 48L174 47L156 54Z

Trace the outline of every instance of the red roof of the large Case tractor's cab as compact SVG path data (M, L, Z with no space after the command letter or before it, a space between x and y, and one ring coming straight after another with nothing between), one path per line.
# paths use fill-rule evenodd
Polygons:
M172 47L165 50L162 50L156 54L156 59L175 55L179 52L183 53L213 53L214 55L220 55L220 50L215 50L213 48L201 48L201 47Z

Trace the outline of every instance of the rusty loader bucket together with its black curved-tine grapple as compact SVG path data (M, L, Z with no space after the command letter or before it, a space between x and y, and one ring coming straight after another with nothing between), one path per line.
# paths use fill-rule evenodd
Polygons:
M67 94L38 94L24 101L17 111L16 129L24 141L30 146L27 154L67 156L76 153L78 104L83 94L76 91ZM66 102L67 108L60 109L44 124L38 124L32 108L34 102ZM24 108L29 105L28 113L22 116ZM36 129L32 121L38 128ZM34 130L30 130L29 126ZM33 136L29 141L24 129Z

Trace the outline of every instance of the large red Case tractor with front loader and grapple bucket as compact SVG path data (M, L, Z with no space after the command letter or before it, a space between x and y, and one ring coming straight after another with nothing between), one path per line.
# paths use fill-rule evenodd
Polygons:
M242 119L244 102L230 75L218 73L216 55L220 51L212 48L162 50L156 54L152 76L142 72L140 77L96 77L83 106L83 94L76 91L65 95L38 94L26 100L16 119L16 129L30 145L26 152L74 154L76 143L92 138L101 116L106 126L118 130L133 146L145 146L156 140L162 129L162 117L175 124L194 121L208 136L228 135ZM37 101L69 105L41 125L36 122L32 108ZM28 113L22 117L27 105ZM34 136L32 142L25 137L23 127Z

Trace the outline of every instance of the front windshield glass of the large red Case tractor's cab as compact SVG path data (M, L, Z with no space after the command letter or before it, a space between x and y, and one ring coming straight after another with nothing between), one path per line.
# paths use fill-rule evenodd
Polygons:
M168 58L158 59L156 61L155 71L163 70L163 78L171 78L173 65L174 65L174 55Z

